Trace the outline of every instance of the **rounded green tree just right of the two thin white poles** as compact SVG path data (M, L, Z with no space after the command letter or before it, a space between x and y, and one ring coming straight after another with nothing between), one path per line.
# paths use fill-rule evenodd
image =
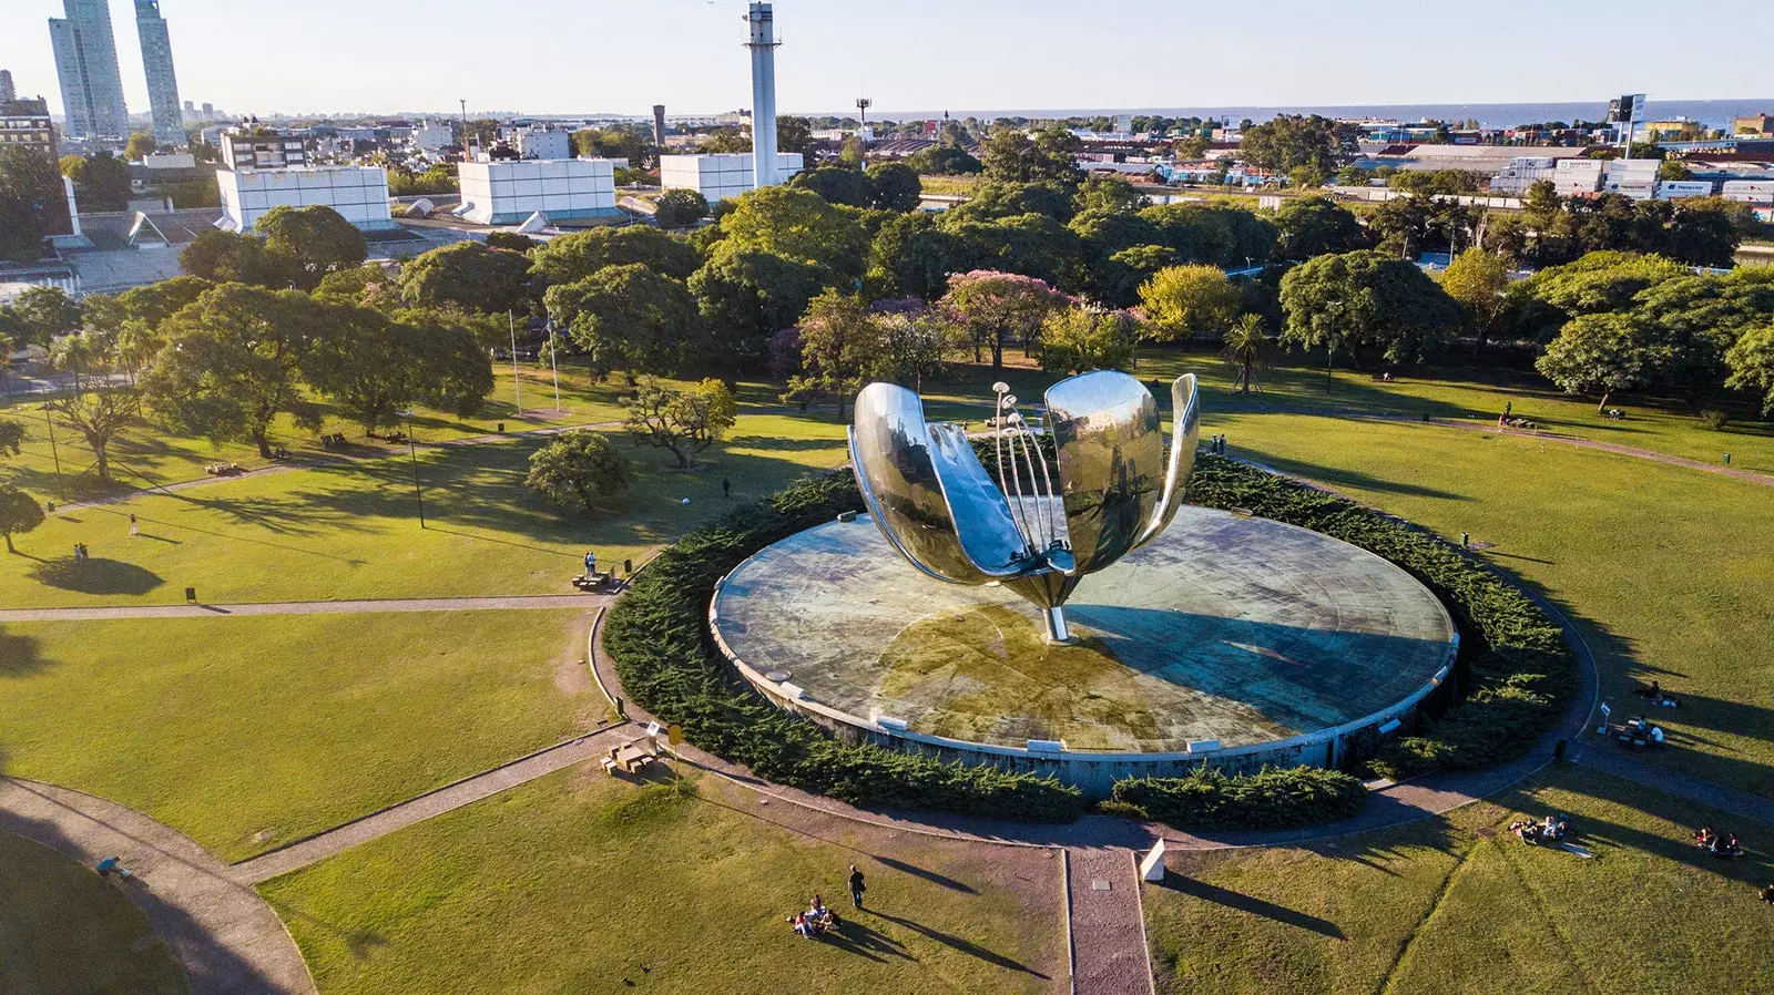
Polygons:
M695 298L681 280L632 262L550 287L548 314L568 326L591 369L678 372L706 351Z

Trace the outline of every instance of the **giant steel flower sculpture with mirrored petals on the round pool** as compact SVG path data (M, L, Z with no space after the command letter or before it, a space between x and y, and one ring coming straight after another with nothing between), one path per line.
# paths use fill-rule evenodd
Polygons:
M850 427L857 486L912 566L951 584L1002 584L1043 610L1048 639L1066 642L1064 603L1079 580L1155 539L1183 504L1201 435L1196 378L1171 383L1169 458L1158 403L1141 381L1098 371L1056 383L1041 426L1054 465L1017 397L993 388L988 472L962 426L924 420L917 394L866 387Z

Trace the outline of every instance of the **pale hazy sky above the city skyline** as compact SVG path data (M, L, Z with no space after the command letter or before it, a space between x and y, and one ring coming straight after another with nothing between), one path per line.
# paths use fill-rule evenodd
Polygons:
M44 20L60 12L60 0L0 0L0 67L57 112ZM743 0L161 0L161 12L181 98L232 114L454 110L458 98L470 112L750 106ZM781 0L775 12L782 112L839 110L862 89L883 112L1774 90L1747 48L1774 34L1767 0ZM135 4L112 0L112 23L142 112Z

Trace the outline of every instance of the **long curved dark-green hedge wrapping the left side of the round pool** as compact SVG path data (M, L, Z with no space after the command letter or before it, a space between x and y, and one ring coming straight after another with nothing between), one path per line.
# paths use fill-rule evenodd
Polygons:
M681 724L692 743L804 791L894 809L1075 819L1084 798L1054 777L844 743L727 678L708 631L715 584L763 546L860 504L848 470L823 474L738 507L660 553L605 621L603 646L630 697Z

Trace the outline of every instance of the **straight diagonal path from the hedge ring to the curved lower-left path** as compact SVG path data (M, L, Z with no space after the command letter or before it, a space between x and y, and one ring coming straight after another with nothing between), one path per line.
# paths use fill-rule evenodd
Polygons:
M422 823L433 816L442 816L452 809L461 809L463 805L470 805L481 798L498 795L507 787L516 787L518 784L573 766L580 761L600 756L633 736L635 731L628 727L628 724L616 724L607 729L600 729L598 733L589 733L578 740L548 747L546 750L539 750L520 761L458 780L456 784L445 787L438 787L429 795L401 802L399 805L392 805L380 812L364 816L362 819L349 821L339 828L310 835L309 839L273 850L263 857L234 864L229 869L229 876L254 885L268 881L298 867L318 864L360 842L389 835L394 830Z

